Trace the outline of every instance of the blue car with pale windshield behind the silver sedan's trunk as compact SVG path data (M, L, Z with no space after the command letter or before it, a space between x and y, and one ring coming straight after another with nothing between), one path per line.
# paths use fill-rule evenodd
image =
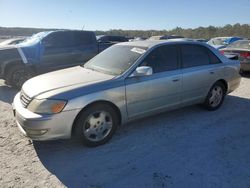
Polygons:
M207 44L213 46L216 49L225 48L227 45L237 41L242 40L242 37L216 37L210 39Z

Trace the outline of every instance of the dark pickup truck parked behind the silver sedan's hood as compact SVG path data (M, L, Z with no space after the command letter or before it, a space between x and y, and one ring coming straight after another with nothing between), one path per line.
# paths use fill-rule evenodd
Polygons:
M0 78L20 88L35 75L83 64L104 50L100 45L91 31L40 32L18 45L0 48Z

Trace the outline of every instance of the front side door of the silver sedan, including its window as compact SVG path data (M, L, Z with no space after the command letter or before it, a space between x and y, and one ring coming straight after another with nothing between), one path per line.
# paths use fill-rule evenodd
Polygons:
M181 71L178 66L178 48L160 46L142 61L153 74L128 77L125 80L129 118L167 109L180 104Z

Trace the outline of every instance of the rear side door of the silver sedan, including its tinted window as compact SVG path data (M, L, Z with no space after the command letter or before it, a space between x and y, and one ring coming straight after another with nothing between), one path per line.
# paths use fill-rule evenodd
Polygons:
M220 60L204 46L181 45L182 103L202 102L209 89L222 77Z

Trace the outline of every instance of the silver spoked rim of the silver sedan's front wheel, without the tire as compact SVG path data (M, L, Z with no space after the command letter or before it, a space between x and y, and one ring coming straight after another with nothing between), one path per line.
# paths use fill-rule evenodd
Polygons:
M84 122L83 134L90 141L101 141L108 136L112 126L112 117L108 112L94 112Z

